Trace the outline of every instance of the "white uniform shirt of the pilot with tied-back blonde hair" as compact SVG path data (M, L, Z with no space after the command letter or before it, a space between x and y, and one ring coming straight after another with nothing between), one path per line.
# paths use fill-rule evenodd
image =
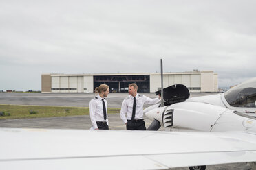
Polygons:
M103 98L100 97L100 95L97 95L89 101L89 117L92 121L92 127L94 129L98 129L98 125L96 121L106 121L107 125L109 125L109 120L104 120L104 114L103 114ZM104 98L105 106L106 106L106 113L107 113L107 100Z

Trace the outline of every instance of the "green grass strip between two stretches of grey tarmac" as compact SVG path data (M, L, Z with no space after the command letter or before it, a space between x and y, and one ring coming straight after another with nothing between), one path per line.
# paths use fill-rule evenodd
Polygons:
M39 117L67 117L75 115L89 114L88 107L69 106L24 106L24 105L4 105L0 104L0 119L22 119ZM7 116L10 113L10 116ZM120 108L108 108L107 113L120 113Z

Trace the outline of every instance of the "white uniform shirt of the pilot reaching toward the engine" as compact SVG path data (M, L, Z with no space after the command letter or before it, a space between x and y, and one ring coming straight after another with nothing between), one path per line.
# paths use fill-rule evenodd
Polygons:
M143 119L143 104L156 104L160 99L155 98L151 99L145 95L136 95L136 112L134 119ZM134 106L134 97L129 95L122 101L122 108L120 111L120 117L124 123L127 123L127 120L131 120L132 108ZM125 117L126 114L126 117Z

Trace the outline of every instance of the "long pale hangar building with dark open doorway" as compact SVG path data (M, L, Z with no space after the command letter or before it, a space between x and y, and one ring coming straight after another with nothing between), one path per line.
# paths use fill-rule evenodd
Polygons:
M217 73L213 71L187 71L164 73L164 87L184 84L191 93L217 92ZM160 73L111 74L42 74L42 93L94 93L100 84L109 85L110 92L127 92L128 85L136 83L139 93L160 90Z

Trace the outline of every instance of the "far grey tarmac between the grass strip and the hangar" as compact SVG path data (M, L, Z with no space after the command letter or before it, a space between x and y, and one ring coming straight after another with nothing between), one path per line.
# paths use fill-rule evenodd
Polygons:
M141 93L147 97L157 97L155 93ZM215 93L191 93L191 97L213 95ZM0 104L39 105L39 106L78 106L89 107L94 93L0 93ZM121 108L128 93L109 93L107 106ZM145 105L147 108L149 105Z

